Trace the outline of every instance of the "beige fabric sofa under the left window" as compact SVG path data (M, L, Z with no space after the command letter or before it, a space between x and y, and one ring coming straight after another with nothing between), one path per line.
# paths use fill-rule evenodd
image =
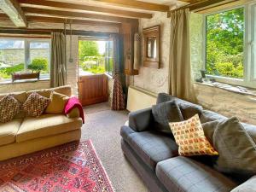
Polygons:
M72 96L70 86L47 90L34 90L42 96L50 96L50 92ZM12 93L23 103L32 91ZM7 94L0 94L0 99ZM12 121L0 123L0 160L8 160L23 154L30 154L45 148L79 140L81 137L82 119L79 110L73 109L69 115L43 114L38 118L26 117L19 113Z

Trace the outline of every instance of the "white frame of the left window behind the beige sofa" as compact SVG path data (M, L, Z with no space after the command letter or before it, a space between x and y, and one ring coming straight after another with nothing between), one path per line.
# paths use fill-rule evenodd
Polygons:
M26 71L27 66L31 63L31 58L30 58L30 44L31 43L40 43L40 42L47 42L49 43L49 55L48 55L48 60L49 60L49 71L50 71L50 62L51 62L51 40L50 38L0 38L0 40L21 40L24 41L24 51L25 51L25 58L24 58L24 71ZM50 73L50 72L49 72ZM41 75L40 75L41 76ZM41 77L40 77L41 79ZM44 78L45 79L45 78ZM46 78L49 79L49 78ZM11 79L6 79L6 81L11 80ZM5 82L5 81L3 81Z

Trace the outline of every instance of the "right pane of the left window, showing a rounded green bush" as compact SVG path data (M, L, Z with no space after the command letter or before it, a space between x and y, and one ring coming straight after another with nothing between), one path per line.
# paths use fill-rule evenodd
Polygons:
M49 77L49 42L31 42L30 64L34 71L40 71L40 78Z

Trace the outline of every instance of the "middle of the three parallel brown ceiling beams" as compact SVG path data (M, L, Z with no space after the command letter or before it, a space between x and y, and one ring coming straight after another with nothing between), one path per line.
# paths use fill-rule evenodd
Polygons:
M94 20L108 20L113 22L131 22L137 23L137 19L125 18L125 17L116 17L108 15L96 15L96 14L85 14L71 11L61 11L61 10L52 10L52 9L38 9L38 8L22 8L25 14L40 14L40 15L55 15L65 18L88 18Z

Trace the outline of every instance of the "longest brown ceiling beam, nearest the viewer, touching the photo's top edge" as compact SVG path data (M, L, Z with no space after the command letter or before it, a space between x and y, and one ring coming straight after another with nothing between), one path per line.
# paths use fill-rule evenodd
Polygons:
M75 4L75 3L61 3L61 2L52 2L47 0L19 0L21 7L29 7L29 6L47 6L52 8L59 8L59 9L72 9L73 11L76 10L84 10L84 11L93 11L99 13L106 13L106 14L113 14L113 15L123 15L127 17L137 17L137 18L152 18L152 14L147 13L140 13L134 11L127 11L127 10L119 10L119 9L109 9L109 8L102 8L84 4Z

